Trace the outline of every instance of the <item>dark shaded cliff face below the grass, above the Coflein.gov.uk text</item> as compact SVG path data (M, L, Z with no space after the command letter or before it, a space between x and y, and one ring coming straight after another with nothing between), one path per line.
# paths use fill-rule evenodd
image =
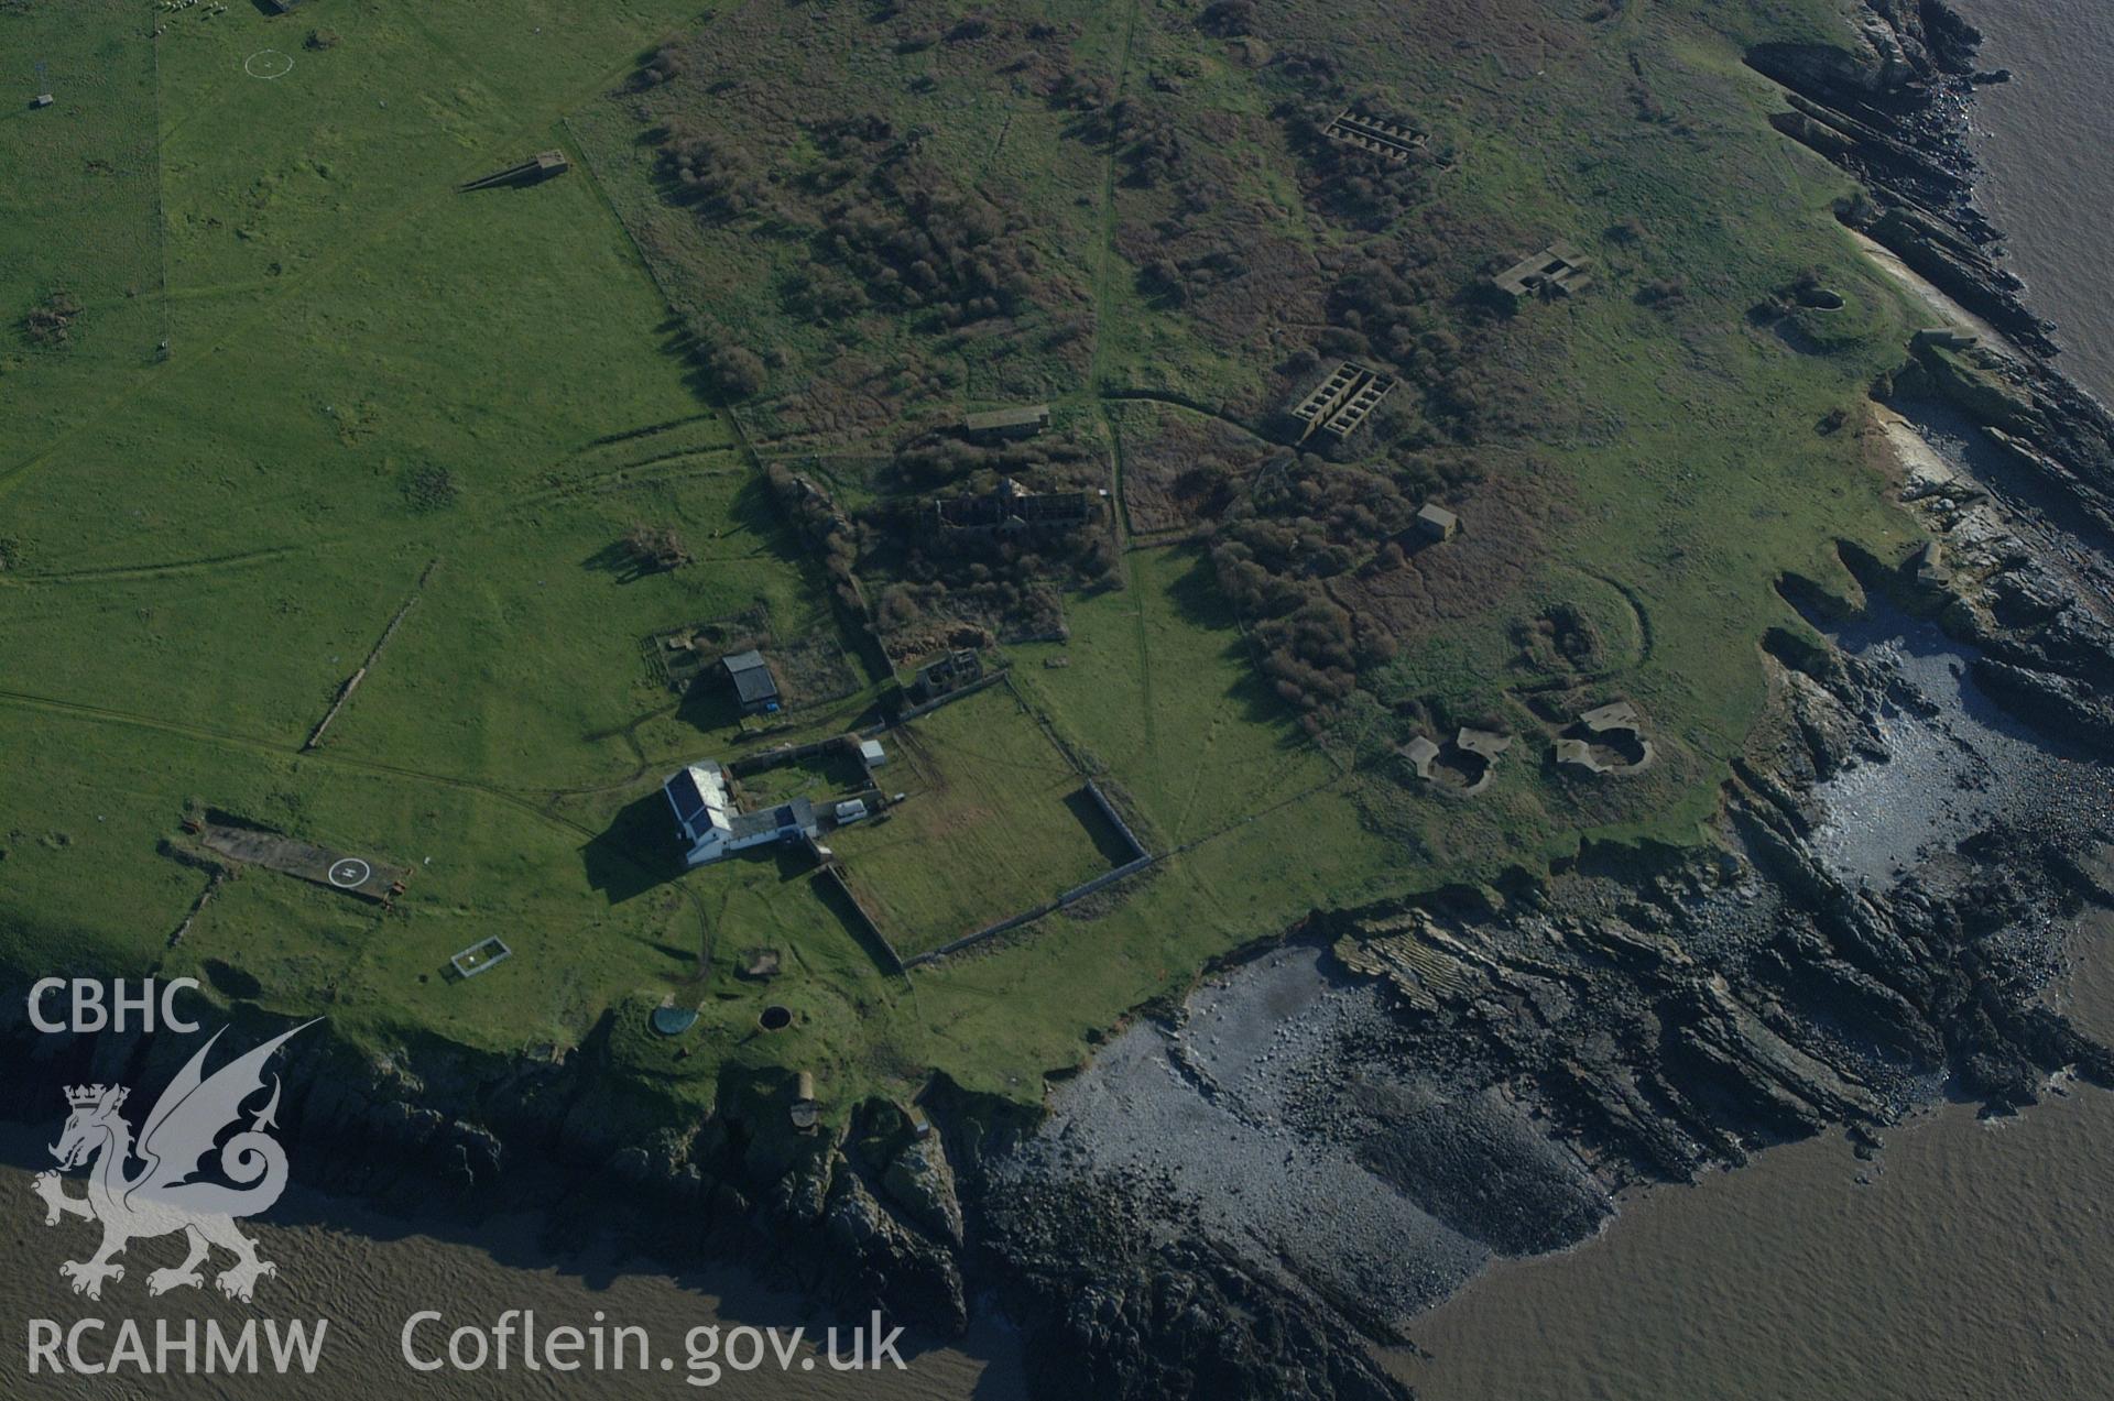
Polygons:
M233 1023L230 1040L243 1046L290 1025L247 1006ZM17 1073L0 1084L0 1114L55 1122L61 1088L85 1082L152 1097L199 1050L211 1019L205 1027L40 1033L8 1004L0 1052ZM915 1137L890 1105L799 1133L784 1095L746 1076L723 1080L702 1122L681 1122L602 1065L600 1040L562 1057L493 1057L429 1040L383 1059L334 1038L326 1021L275 1065L294 1177L414 1215L535 1209L611 1228L641 1221L641 1245L666 1257L746 1259L852 1312L884 1308L939 1335L966 1327L962 1202L939 1137ZM958 1122L1004 1122L966 1099L956 1112Z

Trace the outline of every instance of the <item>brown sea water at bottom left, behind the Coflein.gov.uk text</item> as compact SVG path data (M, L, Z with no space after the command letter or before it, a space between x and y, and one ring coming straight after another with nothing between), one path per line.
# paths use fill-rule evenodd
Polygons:
M53 1092L53 1103L63 1103ZM63 1118L63 1114L59 1116ZM903 1348L907 1367L896 1371L835 1374L808 1348L791 1371L765 1363L757 1371L721 1371L712 1386L689 1384L689 1329L736 1325L791 1329L805 1325L822 1335L833 1319L803 1308L801 1300L757 1287L729 1266L708 1266L689 1274L668 1274L664 1266L626 1259L609 1243L550 1247L535 1221L499 1219L474 1230L414 1226L370 1213L300 1188L290 1190L262 1221L245 1230L260 1240L260 1255L279 1266L277 1278L260 1283L254 1304L180 1289L150 1300L146 1272L178 1264L171 1240L135 1243L125 1259L123 1281L106 1285L101 1302L74 1297L59 1278L61 1259L82 1259L95 1245L95 1228L78 1219L44 1226L44 1209L30 1192L32 1175L17 1162L36 1162L40 1141L57 1135L59 1118L40 1137L21 1126L0 1128L8 1166L0 1166L0 1401L30 1397L173 1399L205 1401L228 1397L247 1401L385 1401L393 1397L444 1397L461 1401L512 1397L759 1397L793 1401L1013 1401L1023 1395L1019 1344L1000 1325L972 1329L960 1348ZM72 1188L78 1194L78 1179ZM524 1371L518 1361L499 1371L486 1361L482 1371L442 1369L421 1374L402 1361L404 1321L419 1310L440 1310L444 1325L416 1333L421 1357L446 1348L448 1329L463 1323L488 1327L509 1308L535 1310L539 1327L588 1329L594 1314L605 1327L638 1325L653 1342L653 1361L670 1357L668 1371ZM152 1340L154 1319L216 1319L224 1329L243 1319L313 1321L328 1319L321 1363L315 1376L222 1378L51 1378L27 1376L25 1335L32 1319L70 1327L78 1319L104 1319L116 1329L120 1319L137 1319ZM203 1325L203 1323L201 1323ZM260 1344L262 1348L262 1344ZM89 1340L91 1361L108 1357L110 1333ZM61 1355L63 1357L63 1355ZM518 1357L518 1355L516 1355ZM636 1355L632 1355L636 1357ZM850 1357L846 1344L841 1357ZM801 1369L814 1359L812 1369ZM698 1369L704 1376L704 1369Z

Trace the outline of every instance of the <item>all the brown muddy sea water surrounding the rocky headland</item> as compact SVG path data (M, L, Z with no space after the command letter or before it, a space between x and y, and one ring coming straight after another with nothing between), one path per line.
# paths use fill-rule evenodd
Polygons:
M1989 30L1985 59L2019 82L1985 95L1987 197L2013 232L2013 264L2063 321L2072 372L2114 397L2114 158L2110 0L1966 0ZM2082 930L2072 1010L2114 1035L2114 928ZM57 1103L57 1099L55 1099ZM42 1133L57 1133L57 1118ZM1862 1162L1837 1135L1778 1147L1738 1173L1632 1198L1600 1238L1560 1257L1503 1264L1414 1329L1425 1355L1389 1367L1425 1401L2004 1401L2114 1399L2114 1097L2072 1088L2017 1120L1941 1109L1886 1135ZM254 1226L281 1264L256 1306L180 1293L150 1302L142 1276L173 1264L142 1245L137 1274L101 1304L76 1300L61 1259L89 1226L47 1230L30 1194L40 1137L0 1128L0 1399L15 1397L860 1397L996 1401L1023 1395L1019 1342L981 1325L960 1348L915 1352L907 1371L776 1369L712 1388L668 1374L520 1369L421 1376L397 1355L404 1319L440 1308L484 1323L533 1308L545 1325L643 1325L681 1355L687 1329L827 1321L715 1266L670 1276L609 1247L552 1253L528 1221L421 1234L359 1207L290 1192ZM167 1243L163 1243L167 1245ZM260 1378L30 1378L30 1319L330 1319L323 1365L296 1384ZM425 1333L431 1338L431 1333ZM795 1363L797 1367L797 1363Z

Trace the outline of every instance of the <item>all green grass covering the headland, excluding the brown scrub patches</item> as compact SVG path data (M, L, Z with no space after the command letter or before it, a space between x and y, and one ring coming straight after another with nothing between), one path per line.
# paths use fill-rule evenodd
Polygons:
M1459 148L1446 207L1503 235L1450 251L1450 285L1552 237L1600 262L1592 296L1503 330L1520 427L1448 497L1463 539L1345 575L1391 590L1395 659L1313 735L1258 674L1203 545L1127 541L1123 587L1068 598L1063 642L1010 649L1030 714L991 691L917 721L882 776L913 799L837 841L903 953L1108 868L1046 721L1169 856L909 985L780 854L681 871L657 786L744 740L727 706L660 685L643 640L755 613L780 640L858 651L700 397L689 313L780 353L742 410L767 450L871 459L903 418L1027 393L1089 440L1104 414L1127 423L1106 391L1247 412L1323 306L1268 279L1239 304L1161 304L1133 254L1173 186L1080 139L1049 72L850 42L865 13L347 0L313 19L186 11L150 38L148 8L0 8L0 61L59 97L0 114L0 955L197 972L230 1000L328 1010L370 1048L600 1044L670 1114L708 1103L725 1067L814 1069L837 1107L932 1071L1036 1101L1089 1031L1315 909L1533 868L1588 835L1698 839L1765 699L1757 640L1801 625L1776 581L1839 581L1837 537L1909 545L1854 429L1816 425L1858 406L1917 315L1835 228L1843 180L1767 129L1774 93L1738 61L1759 36L1824 34L1826 4L1626 6L1600 25L1524 8L1535 42L1469 25L1459 51L1463 6L1433 6L1414 44L1315 17L1351 25L1330 46L1347 82ZM336 42L309 46L323 23ZM1357 251L1309 218L1268 116L1296 95L1287 66L1237 57L1190 8L1061 6L1055 23L1072 72L1177 110L1190 148L1232 167L1224 205L1249 222L1199 237L1283 266ZM1006 347L873 309L791 317L778 287L808 241L657 197L641 135L668 112L632 74L700 27L710 80L731 82L723 120L769 125L793 167L816 165L780 120L808 89L827 114L926 127L941 169L1019 211L1051 302ZM262 51L292 66L252 76L279 72L252 63ZM1672 120L1624 97L1632 53ZM552 146L575 156L564 178L455 188ZM1615 237L1630 222L1640 237ZM1797 349L1746 311L1807 266L1850 306ZM1685 296L1636 300L1668 279ZM55 289L82 304L72 342L30 344L21 319ZM632 577L615 547L634 524L676 528L696 562ZM1533 642L1558 609L1596 636L1586 672ZM1552 683L1636 699L1664 763L1621 784L1554 776L1533 706ZM841 733L875 691L778 737ZM1433 714L1520 735L1471 803L1389 776ZM252 871L169 949L205 883L156 854L186 803L416 875L383 915ZM509 961L442 976L490 934ZM738 976L765 947L778 978ZM702 1012L679 1044L645 1031L668 997ZM774 1002L795 1025L759 1035Z

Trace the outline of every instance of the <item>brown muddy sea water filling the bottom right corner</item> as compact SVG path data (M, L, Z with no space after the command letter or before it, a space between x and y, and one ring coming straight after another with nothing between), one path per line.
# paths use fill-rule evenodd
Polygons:
M2110 919L2078 932L2065 1008L2101 1038L2110 940ZM1653 1190L1600 1238L1480 1276L1416 1344L1389 1367L1423 1401L2108 1401L2114 1095L1945 1107L1877 1162L1829 1135Z

